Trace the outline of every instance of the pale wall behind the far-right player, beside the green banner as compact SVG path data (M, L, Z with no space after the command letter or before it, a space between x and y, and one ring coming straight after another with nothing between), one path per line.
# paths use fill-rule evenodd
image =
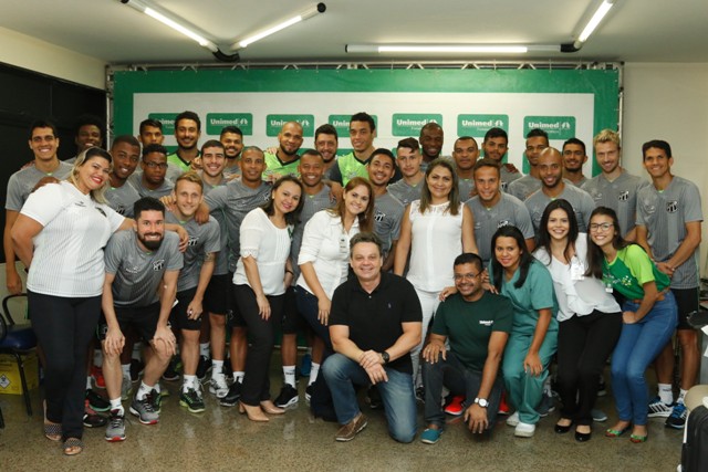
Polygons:
M699 187L704 217L708 219L708 64L627 63L624 90L624 167L648 178L642 167L642 144L649 139L668 141L673 172ZM704 222L704 274L707 230Z

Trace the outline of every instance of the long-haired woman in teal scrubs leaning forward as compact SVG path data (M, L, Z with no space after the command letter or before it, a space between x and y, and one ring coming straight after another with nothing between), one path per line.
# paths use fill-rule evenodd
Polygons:
M497 230L491 250L489 277L493 289L511 300L514 310L502 371L507 398L517 411L507 424L516 428L514 436L530 438L540 418L537 408L558 340L553 280L529 253L523 234L516 227Z

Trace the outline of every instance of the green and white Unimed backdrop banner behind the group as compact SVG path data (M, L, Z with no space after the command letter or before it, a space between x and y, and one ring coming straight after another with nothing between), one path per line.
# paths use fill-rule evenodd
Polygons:
M232 125L247 145L275 146L282 124L295 120L303 147L313 147L314 130L330 123L344 150L351 148L348 118L366 112L377 124L375 146L389 149L417 138L430 122L445 130L444 155L458 136L481 146L487 129L501 127L509 134L507 160L525 169L530 129L545 130L559 149L577 137L592 154L593 136L618 123L615 70L189 70L116 72L114 78L115 135L137 135L149 116L165 125L168 147L176 145L175 115L190 109L201 117L201 141ZM585 174L593 162L591 156Z

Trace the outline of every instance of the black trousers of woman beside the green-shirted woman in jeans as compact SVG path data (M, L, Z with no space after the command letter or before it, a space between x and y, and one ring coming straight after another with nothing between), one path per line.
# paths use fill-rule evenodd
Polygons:
M622 313L594 311L559 323L558 388L561 417L591 424L603 366L622 331Z

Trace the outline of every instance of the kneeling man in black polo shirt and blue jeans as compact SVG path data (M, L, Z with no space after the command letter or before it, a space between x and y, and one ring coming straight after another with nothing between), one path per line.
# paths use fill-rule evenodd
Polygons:
M410 349L420 343L423 314L413 285L382 273L382 243L373 233L350 242L356 275L332 297L330 337L335 354L322 366L342 428L337 441L351 441L366 427L354 385L378 387L389 434L399 442L416 436L416 398Z

